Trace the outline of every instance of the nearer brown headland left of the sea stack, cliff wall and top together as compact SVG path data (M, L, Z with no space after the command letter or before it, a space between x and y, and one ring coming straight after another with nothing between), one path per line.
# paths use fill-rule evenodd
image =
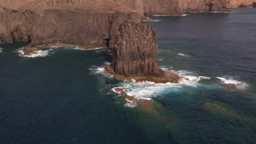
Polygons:
M141 20L135 10L109 1L107 8L102 6L103 0L27 0L13 7L5 3L0 6L0 42L31 39L30 46L64 43L107 47L121 23Z

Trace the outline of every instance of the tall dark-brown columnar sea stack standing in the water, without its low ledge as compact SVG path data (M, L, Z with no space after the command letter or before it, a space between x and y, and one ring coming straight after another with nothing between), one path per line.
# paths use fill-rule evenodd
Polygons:
M158 41L152 27L125 22L113 39L114 72L125 76L161 75L158 66Z

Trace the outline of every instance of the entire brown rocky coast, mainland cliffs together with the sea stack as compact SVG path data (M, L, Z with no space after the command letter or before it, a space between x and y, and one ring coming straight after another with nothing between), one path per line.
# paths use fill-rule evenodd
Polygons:
M106 71L120 80L178 83L180 77L158 66L157 34L141 21L147 15L182 16L184 12L229 13L242 0L0 0L0 43L30 41L24 55L40 47L108 47Z

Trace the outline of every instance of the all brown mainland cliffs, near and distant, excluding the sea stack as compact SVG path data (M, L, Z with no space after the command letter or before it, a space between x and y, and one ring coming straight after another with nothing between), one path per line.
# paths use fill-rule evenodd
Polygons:
M212 4L209 1L0 0L0 43L31 39L32 47L58 41L106 46L121 23L139 22L144 13L182 15L185 10L228 10L228 0L214 0Z

